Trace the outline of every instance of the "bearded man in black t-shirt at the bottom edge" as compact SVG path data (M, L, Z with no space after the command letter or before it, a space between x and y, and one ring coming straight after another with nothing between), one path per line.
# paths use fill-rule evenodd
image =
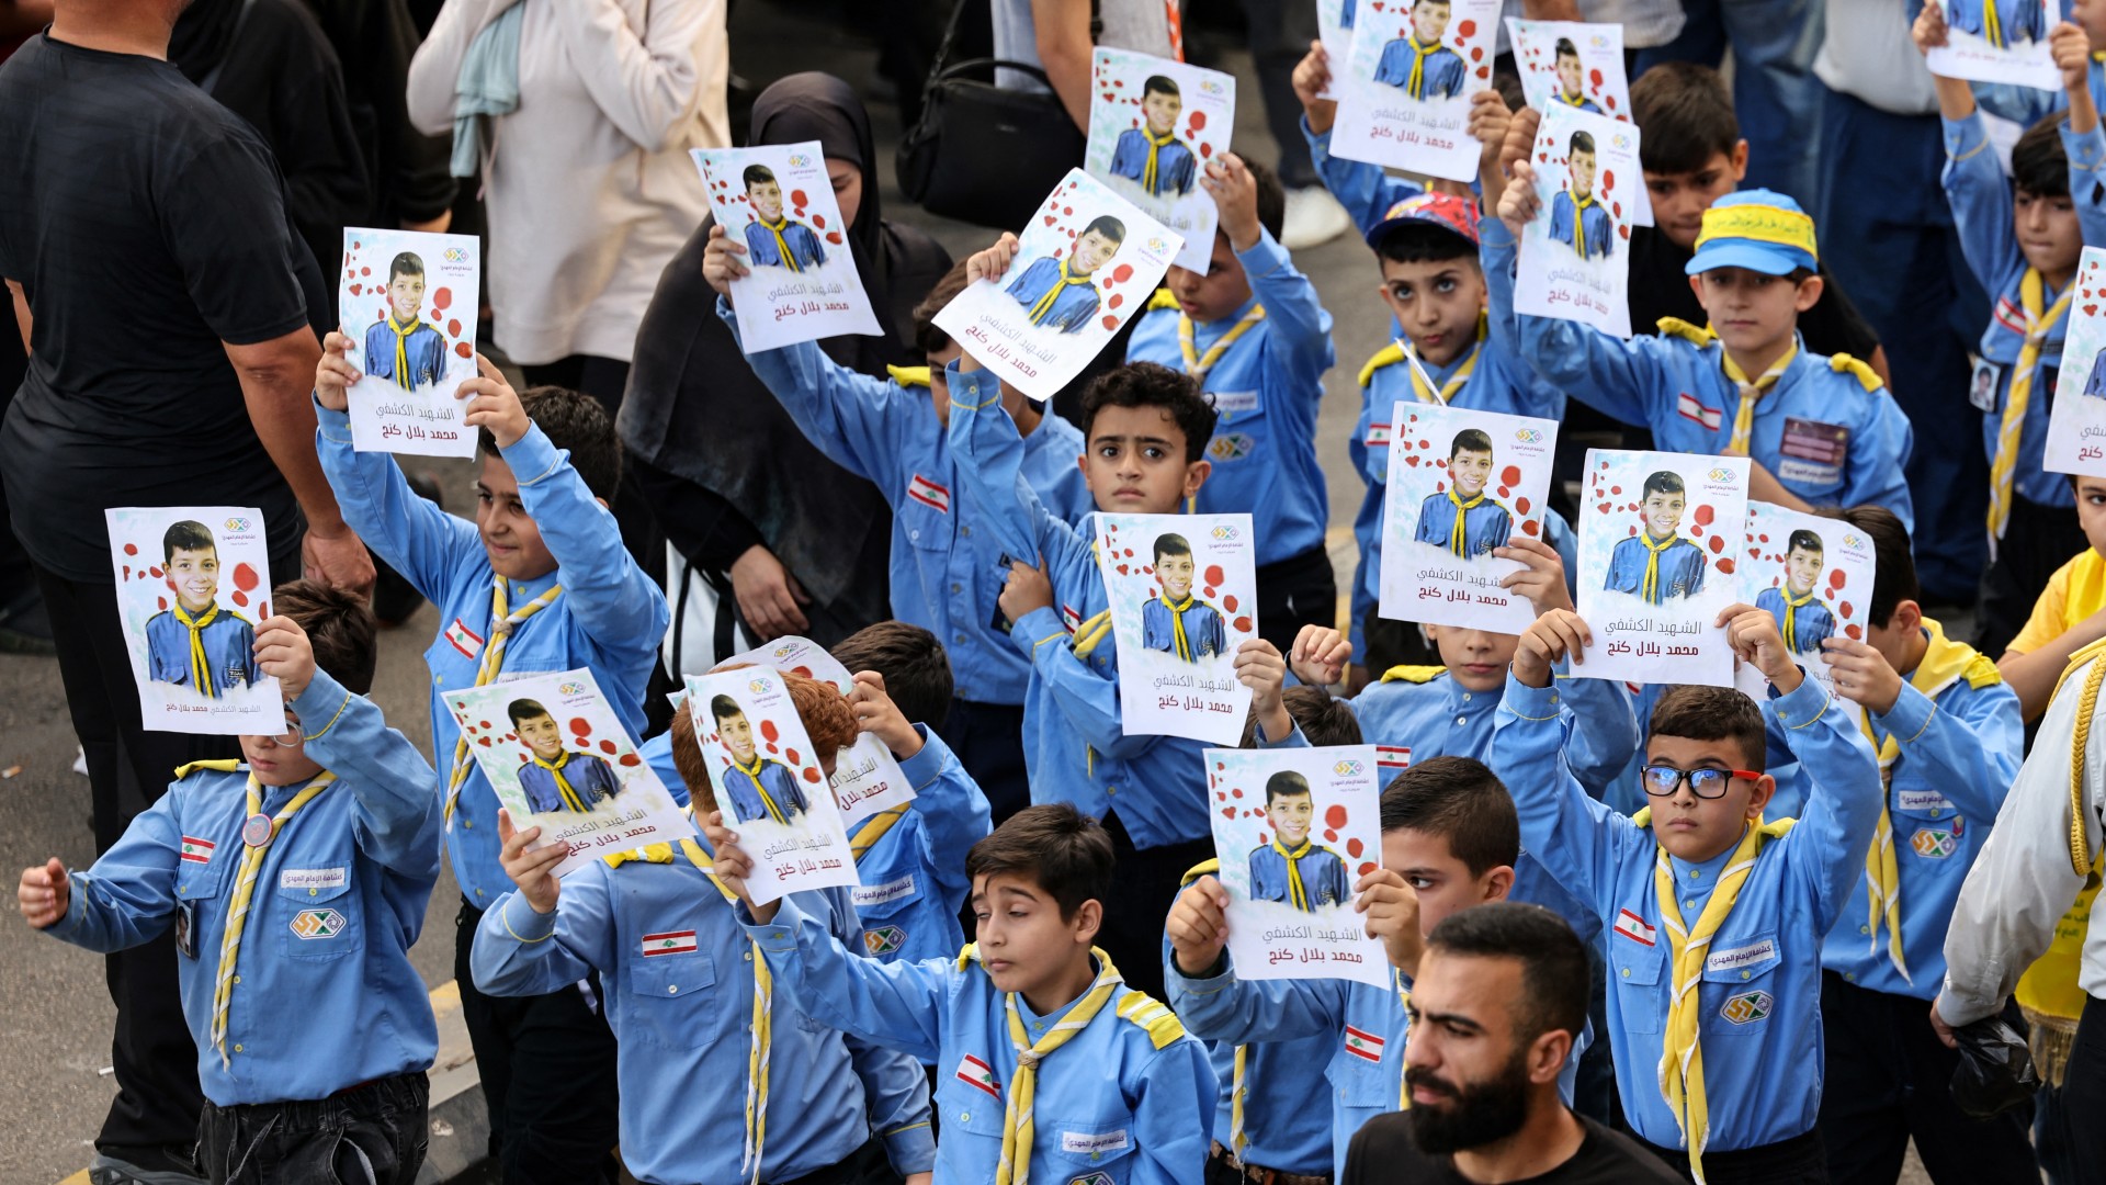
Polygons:
M1539 905L1478 905L1434 926L1411 985L1411 1109L1352 1137L1339 1185L1676 1185L1558 1099L1588 985L1586 945Z

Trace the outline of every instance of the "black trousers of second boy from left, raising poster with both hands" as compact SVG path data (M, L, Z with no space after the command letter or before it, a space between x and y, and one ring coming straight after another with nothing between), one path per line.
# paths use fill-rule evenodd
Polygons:
M453 976L505 1185L617 1181L621 1096L600 978L550 995L482 995L468 961L480 921L482 911L463 900Z

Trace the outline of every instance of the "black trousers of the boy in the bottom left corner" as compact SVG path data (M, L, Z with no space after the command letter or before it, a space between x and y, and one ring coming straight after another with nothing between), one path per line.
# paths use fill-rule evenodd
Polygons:
M432 1084L381 1077L314 1103L204 1105L198 1164L213 1185L411 1185L423 1168Z

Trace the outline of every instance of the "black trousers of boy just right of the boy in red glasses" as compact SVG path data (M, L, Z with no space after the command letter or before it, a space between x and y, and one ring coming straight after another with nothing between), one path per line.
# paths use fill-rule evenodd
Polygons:
M1914 995L1870 991L1822 972L1826 1084L1822 1143L1834 1185L1893 1185L1908 1141L1938 1185L2037 1185L2032 1105L1971 1120L1952 1103L1961 1054L1931 1029ZM2018 1010L2011 1010L2018 1021Z

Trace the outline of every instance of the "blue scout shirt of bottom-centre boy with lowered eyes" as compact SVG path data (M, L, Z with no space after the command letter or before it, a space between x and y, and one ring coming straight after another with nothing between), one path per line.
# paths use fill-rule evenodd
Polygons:
M823 1023L935 1063L943 1128L937 1185L994 1181L1017 1048L1009 997L969 953L918 964L857 959L796 894L771 924L746 932L777 983ZM1015 1004L1034 1042L1074 1008L1040 1016L1021 995ZM1038 1063L1032 1094L1032 1181L1188 1185L1205 1177L1213 1067L1177 1018L1141 991L1116 987L1087 1027Z

